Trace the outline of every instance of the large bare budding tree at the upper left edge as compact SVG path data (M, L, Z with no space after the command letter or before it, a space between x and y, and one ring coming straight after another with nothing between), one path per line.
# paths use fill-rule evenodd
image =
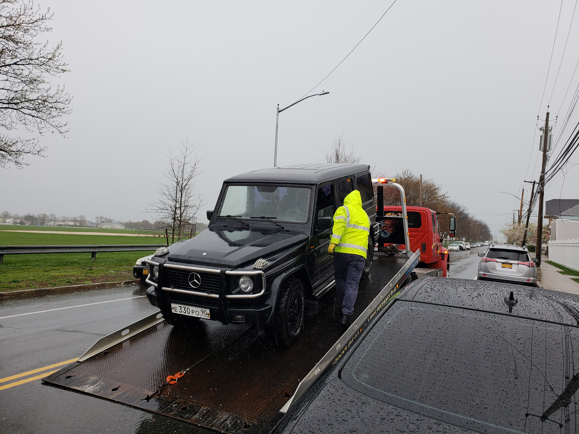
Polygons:
M52 89L49 77L67 72L61 54L62 43L48 47L37 42L50 32L50 9L41 10L28 0L0 0L0 126L14 130L57 131L64 136L66 123L60 117L69 113L71 101L64 87ZM36 138L14 138L0 134L0 167L10 163L27 165L27 155L43 156L46 147Z

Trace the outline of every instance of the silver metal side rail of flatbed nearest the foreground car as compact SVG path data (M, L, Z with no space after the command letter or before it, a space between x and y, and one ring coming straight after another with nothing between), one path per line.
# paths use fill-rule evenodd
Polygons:
M323 358L313 367L313 369L299 382L298 388L295 390L294 394L288 399L283 407L280 409L280 413L287 413L292 404L294 404L301 396L310 388L310 386L321 377L321 375L328 369L330 365L334 365L346 352L350 345L356 340L358 334L364 328L367 322L369 322L374 315L386 306L387 300L393 295L395 290L398 289L399 282L403 277L408 276L412 269L420 261L420 250L415 253L406 253L408 255L408 261L404 264L404 267L396 273L396 275L390 279L390 281L384 285L384 288L380 293L371 301L367 308L360 314L360 316L354 321L354 323L342 334L342 337L334 344L332 348L324 355Z

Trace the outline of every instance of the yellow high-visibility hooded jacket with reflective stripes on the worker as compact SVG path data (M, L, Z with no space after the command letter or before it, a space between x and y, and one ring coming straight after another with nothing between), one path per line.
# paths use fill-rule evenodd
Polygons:
M334 214L334 229L331 243L336 244L335 252L354 253L364 256L368 252L370 219L362 208L360 192L354 190L344 198L344 206Z

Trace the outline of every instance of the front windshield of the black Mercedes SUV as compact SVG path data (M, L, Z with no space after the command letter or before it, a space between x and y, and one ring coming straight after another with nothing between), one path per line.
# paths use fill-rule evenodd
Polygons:
M311 193L309 187L229 185L217 216L267 217L280 222L306 223Z

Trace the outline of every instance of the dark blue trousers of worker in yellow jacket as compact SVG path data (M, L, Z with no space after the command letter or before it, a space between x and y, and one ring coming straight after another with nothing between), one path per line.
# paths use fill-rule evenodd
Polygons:
M358 284L364 270L364 256L354 253L334 252L334 274L336 294L342 306L342 313L351 315L358 295Z

